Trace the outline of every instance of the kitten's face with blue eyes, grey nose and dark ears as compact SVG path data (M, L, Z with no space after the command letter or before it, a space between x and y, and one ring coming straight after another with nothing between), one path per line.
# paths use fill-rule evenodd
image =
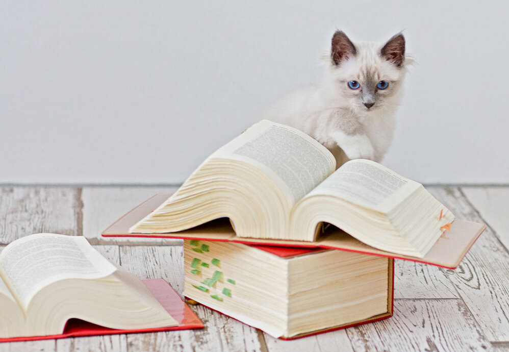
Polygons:
M402 34L383 45L353 44L337 31L332 38L328 86L352 111L368 115L399 103L405 63Z

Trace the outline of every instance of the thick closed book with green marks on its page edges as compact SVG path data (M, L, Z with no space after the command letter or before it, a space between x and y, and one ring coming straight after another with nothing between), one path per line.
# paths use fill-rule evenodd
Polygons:
M341 250L184 241L184 295L276 338L392 315L393 259Z

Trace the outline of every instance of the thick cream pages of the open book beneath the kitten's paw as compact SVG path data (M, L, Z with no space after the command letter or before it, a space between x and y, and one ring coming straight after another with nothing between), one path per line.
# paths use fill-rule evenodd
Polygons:
M176 232L228 217L239 237L314 241L328 222L372 247L422 258L454 220L421 184L378 163L335 169L313 138L263 120L129 231Z

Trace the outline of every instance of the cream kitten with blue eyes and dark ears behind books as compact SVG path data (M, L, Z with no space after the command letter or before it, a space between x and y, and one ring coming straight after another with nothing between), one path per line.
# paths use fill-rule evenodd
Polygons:
M400 33L385 44L353 44L337 31L320 84L285 96L264 118L318 140L333 153L337 167L349 159L378 162L392 141L394 113L410 63Z

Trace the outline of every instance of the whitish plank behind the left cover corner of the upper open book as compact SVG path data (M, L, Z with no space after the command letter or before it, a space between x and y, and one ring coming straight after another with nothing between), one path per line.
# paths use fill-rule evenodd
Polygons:
M84 187L83 235L93 244L168 244L182 240L163 238L101 237L119 217L157 193L173 193L176 187Z

